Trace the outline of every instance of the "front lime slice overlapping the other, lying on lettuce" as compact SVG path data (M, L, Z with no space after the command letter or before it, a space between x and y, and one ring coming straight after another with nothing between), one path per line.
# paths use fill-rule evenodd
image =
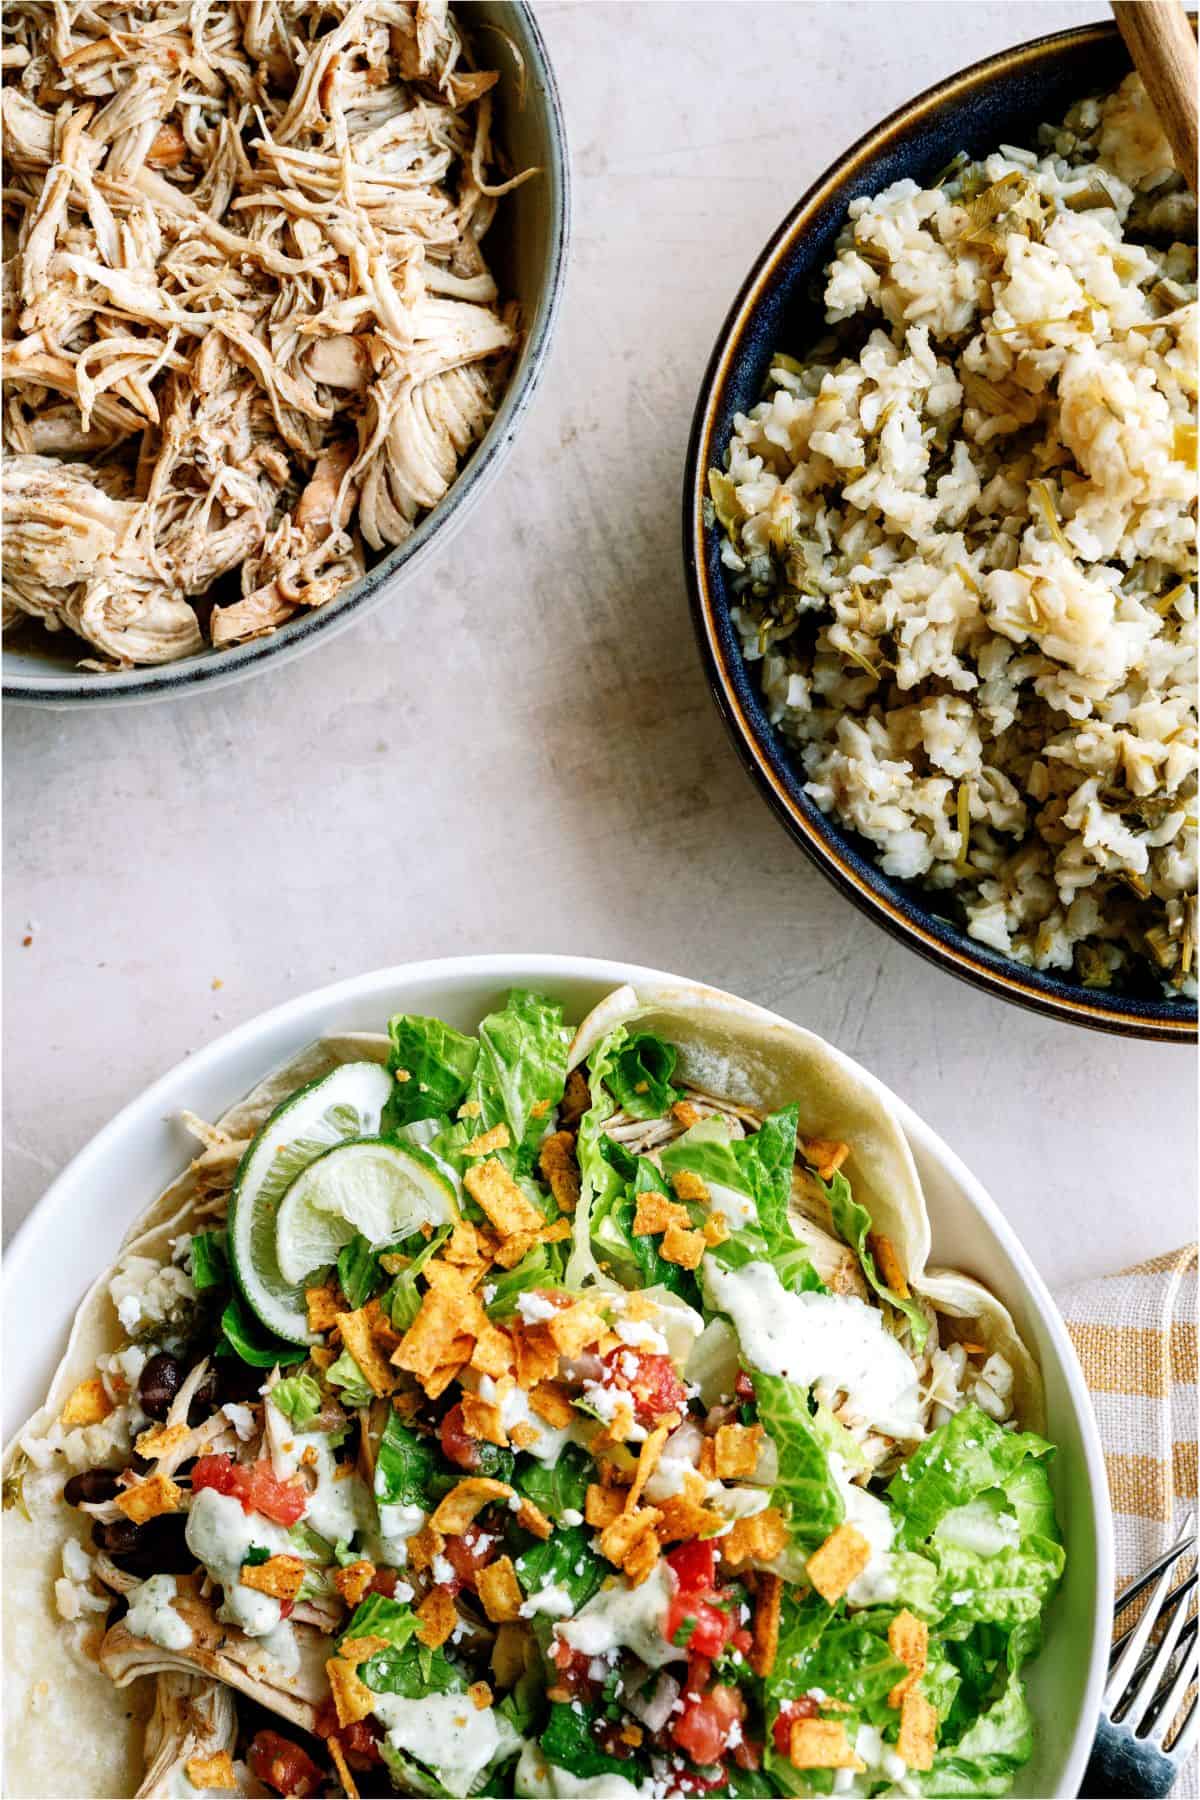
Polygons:
M344 1143L309 1163L284 1193L275 1258L284 1282L302 1282L356 1231L371 1246L394 1244L457 1217L452 1184L419 1150L381 1138Z

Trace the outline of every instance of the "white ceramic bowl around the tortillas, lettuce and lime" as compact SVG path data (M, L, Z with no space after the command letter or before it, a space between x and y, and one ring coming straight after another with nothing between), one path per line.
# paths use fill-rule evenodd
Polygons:
M473 1030L511 986L554 995L579 1021L622 981L671 981L657 970L581 956L464 956L380 968L277 1006L180 1062L79 1152L18 1231L4 1267L4 1435L41 1402L88 1283L133 1219L191 1154L187 1107L218 1118L272 1067L329 1030L383 1030L394 1012L435 1013ZM766 1013L765 1017L772 1017ZM860 1071L865 1073L865 1071ZM871 1075L867 1080L874 1082ZM889 1089L916 1156L934 1228L934 1258L986 1282L1011 1309L1042 1363L1054 1492L1067 1575L1045 1651L1029 1670L1034 1757L1016 1795L1078 1795L1105 1679L1112 1604L1112 1519L1096 1418L1070 1339L1038 1273L995 1201L952 1150Z

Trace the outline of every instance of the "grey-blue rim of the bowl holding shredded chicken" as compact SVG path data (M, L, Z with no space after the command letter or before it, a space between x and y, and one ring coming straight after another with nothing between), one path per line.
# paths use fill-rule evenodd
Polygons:
M5 675L2 688L5 700L18 706L49 706L50 709L117 706L130 700L167 700L196 693L201 688L210 689L243 680L246 675L261 670L270 659L275 659L282 666L311 648L318 634L333 635L344 630L353 619L380 605L390 587L398 587L416 572L412 565L439 535L446 538L457 529L466 509L479 500L495 475L498 475L545 369L561 311L570 250L570 151L554 67L529 0L507 0L507 5L522 16L533 50L529 74L542 88L547 110L552 148L547 176L554 203L549 274L538 295L518 365L500 398L497 414L462 464L446 497L425 515L410 538L405 538L403 544L389 551L372 569L367 569L365 576L354 583L344 599L335 601L331 607L318 607L313 612L299 614L268 637L257 637L223 652L207 648L182 666L164 662L155 668L121 670L112 675L70 675L58 671L47 675Z

